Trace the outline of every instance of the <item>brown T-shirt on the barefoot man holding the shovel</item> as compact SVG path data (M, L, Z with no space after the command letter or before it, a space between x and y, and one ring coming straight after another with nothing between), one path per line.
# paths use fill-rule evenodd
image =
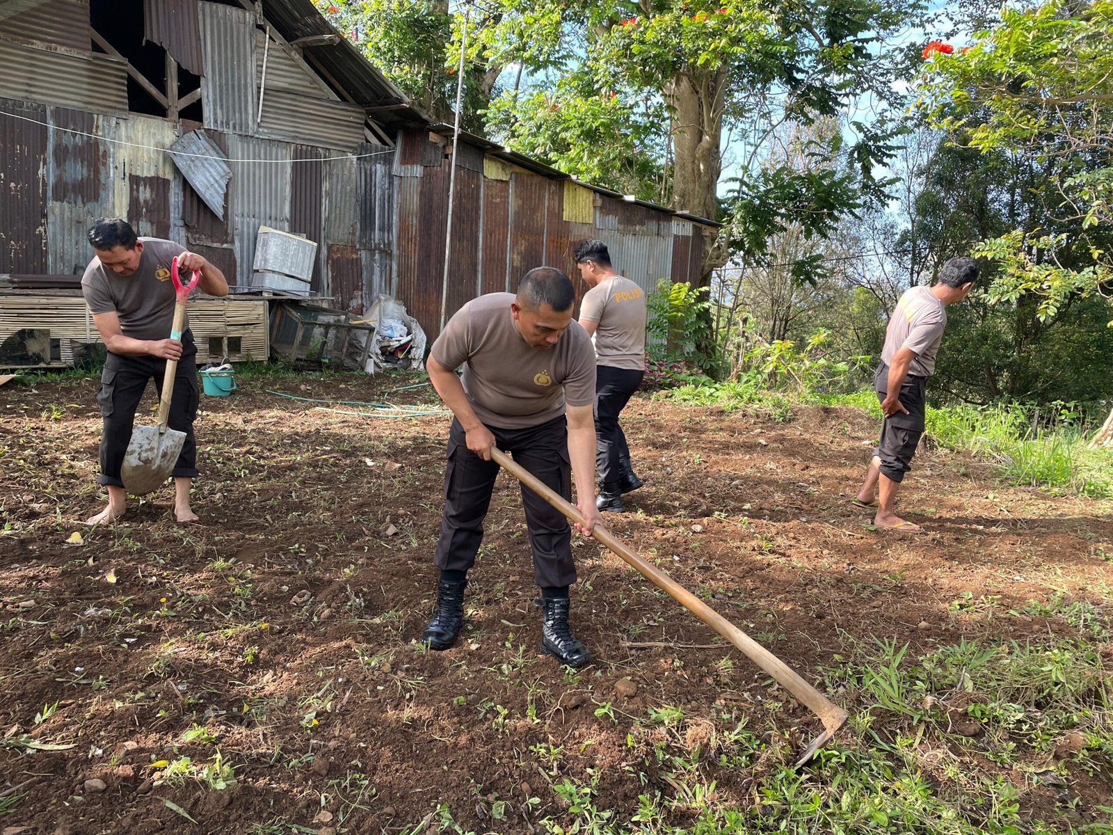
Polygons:
M176 295L170 262L186 247L162 238L139 238L142 254L135 275L117 275L93 258L81 276L81 294L93 313L115 313L120 333L132 340L168 340ZM189 274L181 276L189 278ZM189 318L183 332L189 327Z

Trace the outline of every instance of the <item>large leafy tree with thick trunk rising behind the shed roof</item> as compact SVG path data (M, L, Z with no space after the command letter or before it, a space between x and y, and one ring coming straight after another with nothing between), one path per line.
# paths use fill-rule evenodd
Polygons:
M498 4L498 22L477 32L474 49L483 60L518 62L524 73L520 89L493 102L493 132L600 185L614 177L622 190L730 220L730 233L706 247L705 284L731 252L756 255L794 223L829 230L830 218L853 210L863 191L881 194L874 173L893 153L895 132L884 119L851 126L853 184L819 169L770 169L762 160L781 124L836 116L861 96L893 98L889 79L902 57L878 55L878 45L918 13L918 0ZM741 176L737 199L723 206L728 131Z

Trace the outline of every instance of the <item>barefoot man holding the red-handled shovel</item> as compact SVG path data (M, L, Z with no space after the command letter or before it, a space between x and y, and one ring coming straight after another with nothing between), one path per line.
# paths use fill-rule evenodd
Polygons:
M108 348L100 379L100 475L108 489L108 507L88 524L111 522L124 515L127 493L120 479L124 455L131 440L136 409L149 380L161 394L167 361L181 361L174 377L168 426L185 433L185 443L173 470L174 517L191 522L189 489L197 475L194 419L197 416L197 346L188 323L173 334L177 295L170 284L174 258L178 269L199 274L197 286L211 296L228 295L224 273L196 253L171 240L140 238L130 224L101 218L89 229L96 256L81 277L81 292L92 312L92 323Z

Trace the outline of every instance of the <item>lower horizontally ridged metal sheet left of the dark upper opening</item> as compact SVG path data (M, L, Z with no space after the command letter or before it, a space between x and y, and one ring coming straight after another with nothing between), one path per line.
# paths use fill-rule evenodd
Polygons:
M124 61L0 38L0 98L127 114Z

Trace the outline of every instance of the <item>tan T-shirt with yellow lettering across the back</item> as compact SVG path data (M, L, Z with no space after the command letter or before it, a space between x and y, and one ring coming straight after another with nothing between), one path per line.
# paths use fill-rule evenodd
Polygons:
M583 295L580 318L598 322L595 356L614 369L646 367L646 294L629 278L604 278Z

